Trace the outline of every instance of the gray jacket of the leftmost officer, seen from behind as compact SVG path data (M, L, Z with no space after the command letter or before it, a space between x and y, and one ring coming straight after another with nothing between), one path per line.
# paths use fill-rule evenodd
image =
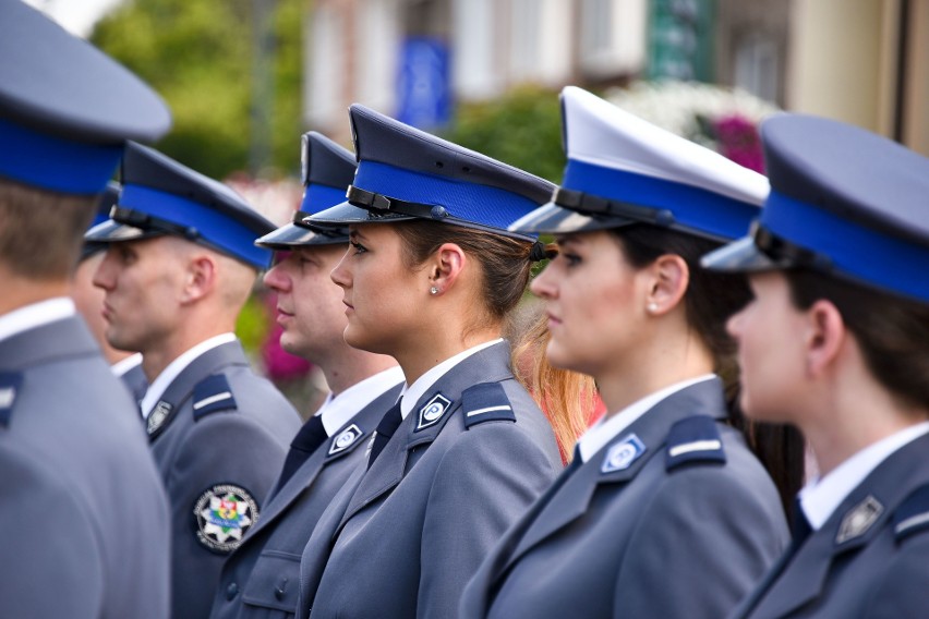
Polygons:
M168 616L168 502L76 317L0 341L0 617Z

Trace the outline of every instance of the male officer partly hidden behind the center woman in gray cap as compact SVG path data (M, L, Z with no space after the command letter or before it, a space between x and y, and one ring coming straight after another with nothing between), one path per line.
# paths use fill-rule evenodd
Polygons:
M329 279L348 230L313 231L303 219L341 203L355 162L351 153L310 132L301 145L305 191L293 222L256 244L280 252L265 275L277 293L281 347L322 369L330 393L290 445L262 520L222 568L214 618L297 612L300 556L323 510L364 462L364 445L400 396L397 362L349 347L341 290Z

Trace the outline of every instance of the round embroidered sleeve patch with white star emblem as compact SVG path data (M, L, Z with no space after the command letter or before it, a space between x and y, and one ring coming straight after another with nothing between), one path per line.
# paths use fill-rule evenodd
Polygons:
M219 484L196 499L196 539L214 553L228 554L242 544L258 521L258 503L245 488Z

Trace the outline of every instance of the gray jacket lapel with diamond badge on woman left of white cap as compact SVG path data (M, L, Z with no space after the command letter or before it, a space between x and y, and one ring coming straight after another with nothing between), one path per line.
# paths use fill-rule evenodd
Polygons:
M338 531L365 506L400 483L407 471L409 451L435 440L461 409L461 391L479 383L505 380L511 376L509 344L500 342L467 357L430 387L362 477ZM437 402L445 412L437 420L432 420L435 409L430 406Z

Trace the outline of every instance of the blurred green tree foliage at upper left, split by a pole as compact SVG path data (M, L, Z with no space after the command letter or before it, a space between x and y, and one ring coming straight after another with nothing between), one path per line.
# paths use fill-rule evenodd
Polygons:
M272 1L272 0L268 0ZM297 168L302 0L274 0L273 166ZM158 148L214 178L248 165L253 0L135 0L97 24L93 43L152 84L174 118Z

